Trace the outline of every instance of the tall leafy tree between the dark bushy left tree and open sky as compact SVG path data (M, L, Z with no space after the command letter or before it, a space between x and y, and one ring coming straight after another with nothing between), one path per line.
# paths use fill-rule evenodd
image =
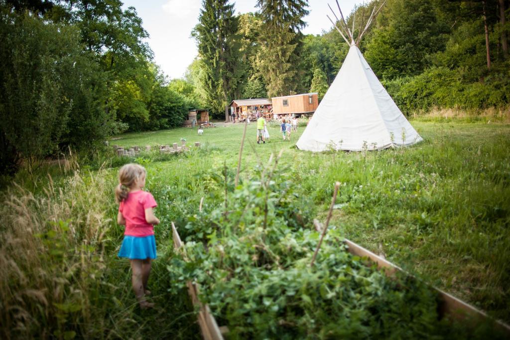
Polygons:
M144 41L148 34L136 9L122 9L119 0L66 0L60 20L75 25L81 41L101 68L108 72L108 87L112 90L108 107L115 109L117 118L133 124L147 121L150 99L148 61L152 51ZM55 13L54 18L56 18Z

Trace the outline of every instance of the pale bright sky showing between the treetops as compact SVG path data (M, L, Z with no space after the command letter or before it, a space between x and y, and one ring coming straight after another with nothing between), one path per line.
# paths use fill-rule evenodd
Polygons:
M181 78L186 68L197 55L196 41L191 30L198 23L201 0L123 0L124 8L133 6L143 20L143 27L149 33L148 43L154 52L154 61L161 66L170 79ZM233 0L236 13L256 12L257 0ZM335 0L309 0L310 14L304 17L308 26L304 34L321 34L332 27L326 17L331 12L327 4L338 8ZM339 0L344 16L348 15L356 0Z

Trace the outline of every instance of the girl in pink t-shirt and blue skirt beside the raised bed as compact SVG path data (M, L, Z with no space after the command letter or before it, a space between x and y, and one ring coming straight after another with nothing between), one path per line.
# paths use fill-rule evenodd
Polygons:
M142 166L126 164L120 168L119 185L115 188L115 198L120 203L117 223L125 225L119 256L131 261L133 291L141 308L154 306L145 296L150 293L147 280L151 259L156 258L154 225L160 223L152 212L158 204L149 192L142 191L146 174Z

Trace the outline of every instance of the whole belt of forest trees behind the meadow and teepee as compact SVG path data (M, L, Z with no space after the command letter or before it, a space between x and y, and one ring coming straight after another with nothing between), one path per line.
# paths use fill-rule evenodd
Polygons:
M371 1L347 16L354 31ZM192 108L224 118L233 99L323 96L348 51L338 32L303 35L305 0L258 0L256 13L204 0L198 56L182 79L153 61L143 22L119 0L2 0L0 173L69 147L89 155L110 135L181 126ZM507 108L508 1L388 0L361 43L406 115ZM360 20L361 18L361 20ZM358 27L360 25L360 27ZM209 32L212 32L210 34Z

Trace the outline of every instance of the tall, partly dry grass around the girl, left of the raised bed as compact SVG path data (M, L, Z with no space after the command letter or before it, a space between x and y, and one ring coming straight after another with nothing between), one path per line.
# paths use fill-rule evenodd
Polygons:
M150 281L161 306L138 309L129 263L116 257L122 230L112 221L114 176L107 170L88 175L76 171L61 187L50 178L43 195L19 186L5 194L0 210L0 337L196 336L185 295L169 296L161 279ZM165 244L159 252L162 261L155 261L153 277L164 275L164 258L172 254Z

